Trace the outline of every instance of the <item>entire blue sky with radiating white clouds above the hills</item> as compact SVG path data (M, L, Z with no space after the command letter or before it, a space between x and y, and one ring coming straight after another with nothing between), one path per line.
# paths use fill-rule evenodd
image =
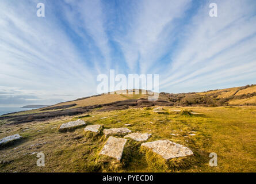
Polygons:
M96 94L110 69L159 74L169 93L255 83L256 2L0 0L0 106Z

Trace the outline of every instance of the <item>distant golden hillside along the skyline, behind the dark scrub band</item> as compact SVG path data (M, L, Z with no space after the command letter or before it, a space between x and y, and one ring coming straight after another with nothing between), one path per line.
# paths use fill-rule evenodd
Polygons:
M148 94L142 94L142 90L140 90L139 94L120 94L124 91L116 91L114 94L102 94L95 95L92 97L79 98L74 101L62 102L56 105L52 105L49 107L57 107L57 106L68 106L74 105L70 108L64 109L72 109L79 108L83 106L91 106L91 105L100 105L100 104L108 104L116 101L123 101L126 99L139 99L139 98L147 98ZM127 90L128 92L128 90ZM256 85L247 85L242 87L233 87L228 89L221 90L210 90L200 93L179 93L179 94L171 94L171 93L160 93L160 100L165 100L173 103L174 106L228 106L228 105L256 105ZM41 113L41 112L51 112L55 110L46 110L47 108L40 108L34 110L28 110L25 112L13 113L16 115L19 114L33 114L33 113Z

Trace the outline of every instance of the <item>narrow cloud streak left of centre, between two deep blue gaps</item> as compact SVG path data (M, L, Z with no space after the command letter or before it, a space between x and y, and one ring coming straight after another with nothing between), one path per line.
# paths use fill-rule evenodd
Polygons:
M61 7L64 10L63 18L70 25L90 51L88 62L92 63L101 74L102 68L110 69L110 46L104 22L106 13L103 12L102 2L95 1L70 1L65 0Z

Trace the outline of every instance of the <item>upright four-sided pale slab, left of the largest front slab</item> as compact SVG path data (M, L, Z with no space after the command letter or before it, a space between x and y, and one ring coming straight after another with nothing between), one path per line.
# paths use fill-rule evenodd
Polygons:
M102 148L100 155L106 155L121 160L126 139L110 136Z

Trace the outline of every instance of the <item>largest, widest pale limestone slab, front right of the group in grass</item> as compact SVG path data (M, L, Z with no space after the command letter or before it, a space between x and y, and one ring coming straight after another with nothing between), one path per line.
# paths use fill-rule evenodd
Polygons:
M142 146L151 148L153 152L161 155L164 159L193 155L193 152L181 144L173 143L169 140L156 140L153 142L143 143Z

